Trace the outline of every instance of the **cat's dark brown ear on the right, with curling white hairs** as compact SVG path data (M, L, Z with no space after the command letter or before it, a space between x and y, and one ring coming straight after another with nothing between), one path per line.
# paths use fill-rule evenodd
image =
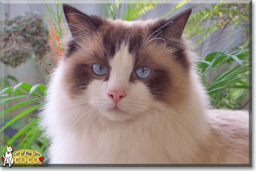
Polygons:
M187 20L192 12L192 8L189 8L168 20L159 20L156 22L153 31L162 38L177 38L180 39L184 31Z

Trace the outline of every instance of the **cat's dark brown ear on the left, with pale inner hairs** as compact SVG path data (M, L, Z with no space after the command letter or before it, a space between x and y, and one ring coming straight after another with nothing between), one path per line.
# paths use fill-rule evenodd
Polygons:
M103 24L103 19L99 16L86 15L75 7L62 5L73 38L77 38L81 34L92 35Z

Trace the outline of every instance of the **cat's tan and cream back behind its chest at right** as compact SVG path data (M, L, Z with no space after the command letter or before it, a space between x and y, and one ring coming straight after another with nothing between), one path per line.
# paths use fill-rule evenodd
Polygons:
M203 163L249 163L249 112L242 110L208 110L210 134L203 146L208 158Z

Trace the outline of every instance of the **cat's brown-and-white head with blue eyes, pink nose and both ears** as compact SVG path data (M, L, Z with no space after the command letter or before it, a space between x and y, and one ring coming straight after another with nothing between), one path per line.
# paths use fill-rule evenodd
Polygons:
M122 22L63 8L72 33L64 59L71 98L122 121L186 96L190 64L181 34L191 10L170 20Z

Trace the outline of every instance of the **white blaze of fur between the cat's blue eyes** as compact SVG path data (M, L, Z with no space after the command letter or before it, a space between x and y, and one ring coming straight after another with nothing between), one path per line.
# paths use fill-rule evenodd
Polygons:
M111 71L109 76L109 90L126 91L129 86L134 60L127 45L121 45L115 56L109 62Z

